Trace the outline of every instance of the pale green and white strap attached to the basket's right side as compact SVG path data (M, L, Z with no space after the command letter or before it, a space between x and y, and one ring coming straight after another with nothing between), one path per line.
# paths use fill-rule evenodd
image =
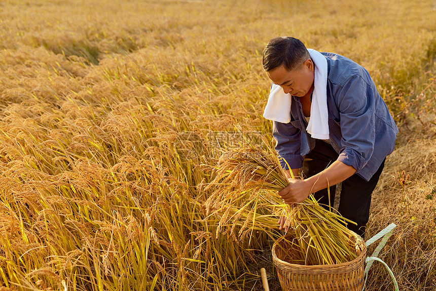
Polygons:
M398 283L395 280L395 276L393 275L392 271L390 270L390 268L388 267L388 265L386 265L385 262L383 262L382 260L380 260L379 258L377 258L378 254L380 253L381 249L386 245L387 240L389 239L389 237L392 235L392 230L396 227L395 224L391 223L390 225L388 225L384 230L380 231L378 234L376 234L375 236L373 236L372 238L370 238L365 245L368 247L369 245L371 245L372 243L376 242L377 240L379 240L380 238L382 239L381 242L379 243L379 245L376 247L376 249L374 250L373 254L371 257L368 257L365 259L365 263L367 263L367 266L365 267L365 283L364 283L364 287L362 288L362 291L364 291L365 289L365 284L367 283L367 279L368 279L368 272L371 268L371 266L373 265L374 261L378 261L380 263L382 263L385 267L386 270L389 272L389 275L392 278L393 281L393 286L394 286L394 290L398 291Z

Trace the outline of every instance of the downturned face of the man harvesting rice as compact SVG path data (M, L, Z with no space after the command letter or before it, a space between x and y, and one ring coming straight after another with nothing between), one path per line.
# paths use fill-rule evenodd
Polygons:
M283 65L267 72L274 84L280 85L284 93L303 97L311 89L314 80L312 60L307 59L298 68L289 71Z

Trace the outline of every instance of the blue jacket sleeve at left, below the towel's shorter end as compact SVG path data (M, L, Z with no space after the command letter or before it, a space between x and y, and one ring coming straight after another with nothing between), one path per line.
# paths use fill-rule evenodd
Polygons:
M303 157L300 155L301 130L291 123L273 121L273 136L281 167L285 170L289 170L289 167L291 169L301 168L303 165Z

